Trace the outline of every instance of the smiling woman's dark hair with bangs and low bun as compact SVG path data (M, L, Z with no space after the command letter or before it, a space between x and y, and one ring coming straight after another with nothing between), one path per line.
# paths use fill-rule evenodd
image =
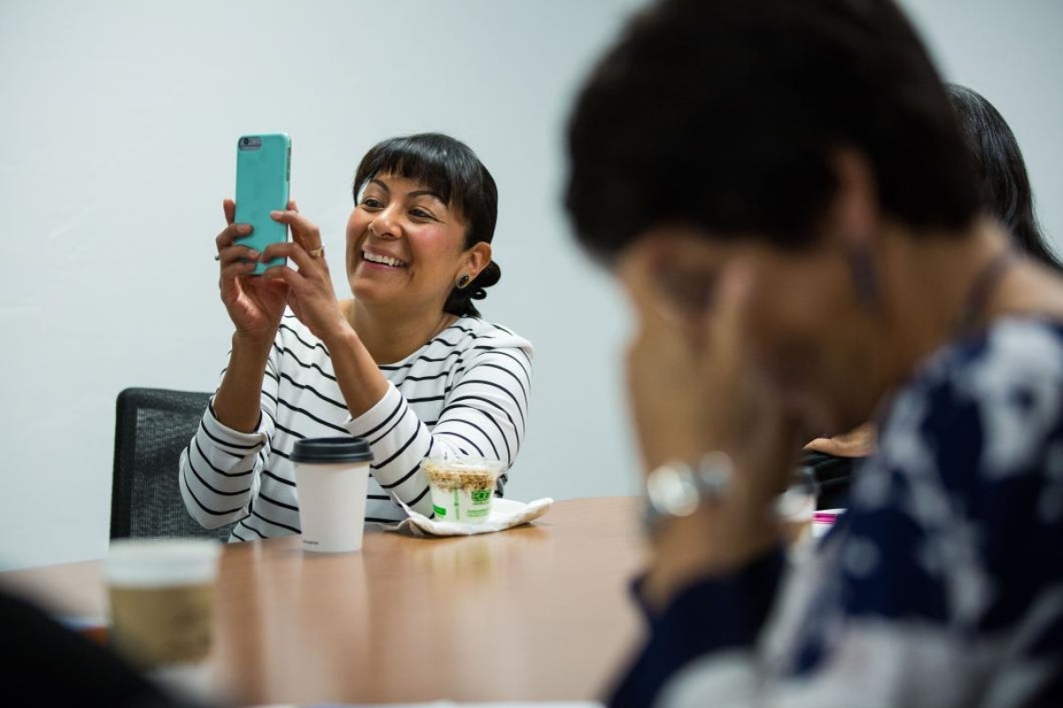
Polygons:
M391 138L376 143L366 153L354 176L354 198L377 174L392 174L412 179L439 194L448 207L457 209L463 218L465 247L494 238L499 218L499 190L494 177L476 154L460 140L440 133L421 133ZM443 311L459 317L479 316L472 300L487 297L490 288L502 277L502 269L493 260L465 288L451 291Z

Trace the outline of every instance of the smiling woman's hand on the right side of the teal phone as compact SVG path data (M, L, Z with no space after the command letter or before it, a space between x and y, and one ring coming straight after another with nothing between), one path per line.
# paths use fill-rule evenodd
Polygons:
M327 344L350 329L340 310L332 275L321 245L321 230L317 224L299 213L294 202L286 211L273 211L273 221L287 224L291 229L291 241L274 243L263 252L263 260L287 258L298 270L289 265L277 265L264 274L267 278L288 283L288 307L300 322Z

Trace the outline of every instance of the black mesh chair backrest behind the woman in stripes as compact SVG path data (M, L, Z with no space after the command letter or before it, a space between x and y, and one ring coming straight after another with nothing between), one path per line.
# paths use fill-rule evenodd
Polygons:
M204 529L185 508L181 451L196 434L212 394L125 388L115 417L111 537L203 536L229 539L232 524Z

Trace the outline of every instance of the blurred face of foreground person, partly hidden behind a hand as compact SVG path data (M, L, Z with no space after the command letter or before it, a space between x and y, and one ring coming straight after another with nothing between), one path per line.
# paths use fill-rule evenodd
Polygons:
M654 247L657 310L692 340L708 331L727 269L744 270L750 283L739 320L745 357L810 437L867 420L882 393L881 328L858 301L843 248L783 251L682 230L665 232Z

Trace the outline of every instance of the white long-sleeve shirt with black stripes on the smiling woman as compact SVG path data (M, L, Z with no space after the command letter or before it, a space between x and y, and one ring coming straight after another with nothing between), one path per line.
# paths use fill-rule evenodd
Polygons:
M185 506L206 528L233 521L230 540L299 533L291 450L304 437L355 435L373 452L366 520L405 517L398 498L432 515L421 462L449 450L513 463L528 410L530 343L476 317L460 317L427 344L382 365L389 385L352 418L325 346L287 313L266 365L258 429L227 428L208 407L181 455ZM507 477L499 481L499 491Z

